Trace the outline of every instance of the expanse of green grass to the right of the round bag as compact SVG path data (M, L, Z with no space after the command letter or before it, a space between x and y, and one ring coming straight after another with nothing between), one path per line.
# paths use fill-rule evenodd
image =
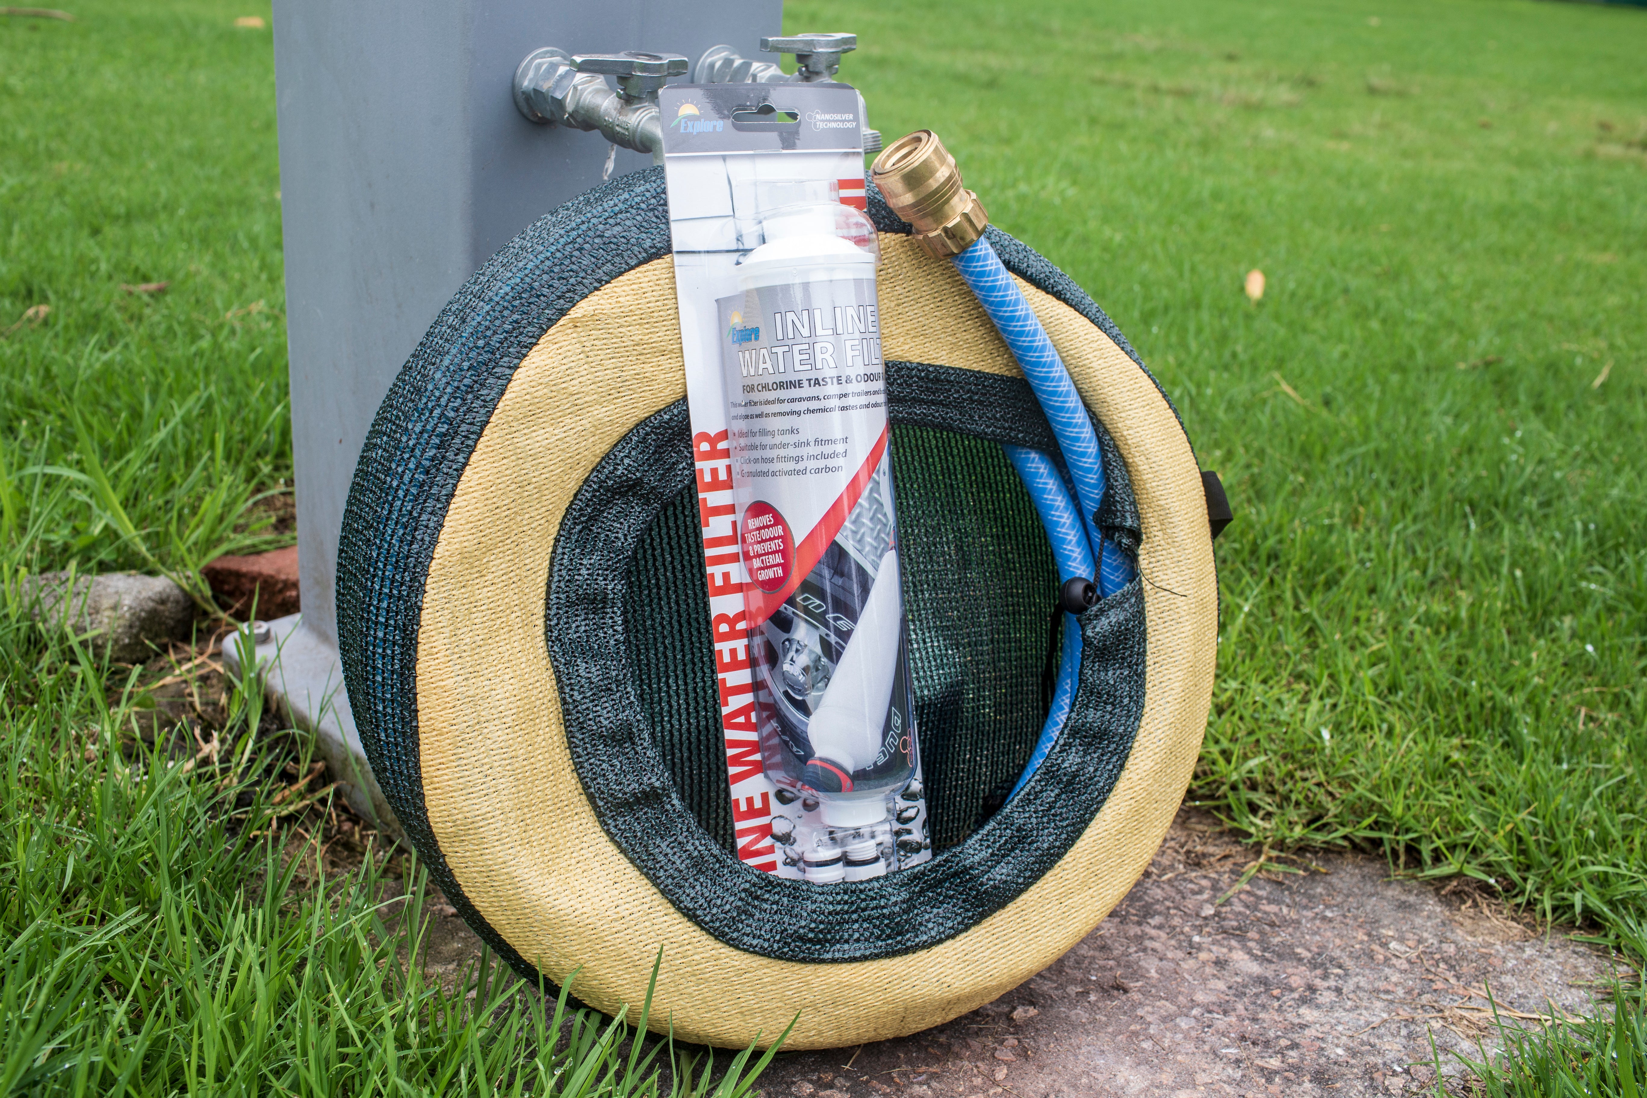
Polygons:
M1647 950L1647 13L789 21L856 30L875 125L940 133L1222 474L1194 795L1278 848L1375 844Z

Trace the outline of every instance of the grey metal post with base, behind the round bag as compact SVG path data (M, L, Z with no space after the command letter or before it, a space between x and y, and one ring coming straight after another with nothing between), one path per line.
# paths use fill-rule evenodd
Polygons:
M343 505L372 415L446 300L535 217L601 181L600 133L520 117L539 46L759 56L782 0L275 0L292 446L303 612L257 645L349 802L392 825L338 665ZM614 173L651 161L618 150ZM240 662L236 639L226 657Z

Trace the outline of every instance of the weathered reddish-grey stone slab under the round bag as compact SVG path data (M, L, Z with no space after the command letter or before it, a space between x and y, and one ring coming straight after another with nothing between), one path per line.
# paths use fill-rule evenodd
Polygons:
M1255 849L1179 815L1131 894L1044 973L945 1026L782 1057L768 1098L1388 1095L1476 1054L1500 1009L1583 1011L1607 958L1382 859L1293 859L1222 905ZM1428 1086L1426 1086L1428 1085Z

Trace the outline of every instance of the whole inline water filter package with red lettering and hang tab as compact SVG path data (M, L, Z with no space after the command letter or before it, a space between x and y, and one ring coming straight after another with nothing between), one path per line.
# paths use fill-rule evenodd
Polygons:
M736 853L866 881L932 849L860 99L685 84L660 109Z

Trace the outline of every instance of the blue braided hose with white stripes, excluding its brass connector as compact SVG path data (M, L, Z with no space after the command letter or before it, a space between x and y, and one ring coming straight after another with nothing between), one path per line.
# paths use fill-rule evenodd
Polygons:
M1023 291L1018 290L1018 283L1013 281L990 242L977 240L954 262L955 270L967 280L978 305L983 306L996 331L1001 333L1001 339L1006 341L1006 347L1018 361L1029 388L1034 390L1047 423L1052 425L1052 435L1057 436L1069 477L1075 482L1072 499L1057 466L1046 454L1019 446L1005 446L1006 456L1018 469L1018 476L1029 489L1036 510L1041 514L1047 540L1052 543L1052 555L1057 560L1059 579L1080 576L1092 579L1100 596L1113 594L1131 583L1133 568L1122 551L1105 543L1095 522L1099 505L1103 502L1103 456L1099 451L1099 436L1092 430L1092 420L1087 416L1087 405L1082 403L1075 384L1069 379L1069 370L1057 357L1057 351L1047 339L1046 329L1041 328L1034 309L1029 308L1029 301L1024 300ZM1080 500L1079 507L1077 499ZM1097 561L1097 568L1094 568L1094 561ZM1080 627L1074 616L1064 622L1062 647L1064 658L1059 665L1057 686L1052 691L1052 706L1011 795L1024 787L1029 775L1046 759L1074 705L1075 678L1080 670Z

